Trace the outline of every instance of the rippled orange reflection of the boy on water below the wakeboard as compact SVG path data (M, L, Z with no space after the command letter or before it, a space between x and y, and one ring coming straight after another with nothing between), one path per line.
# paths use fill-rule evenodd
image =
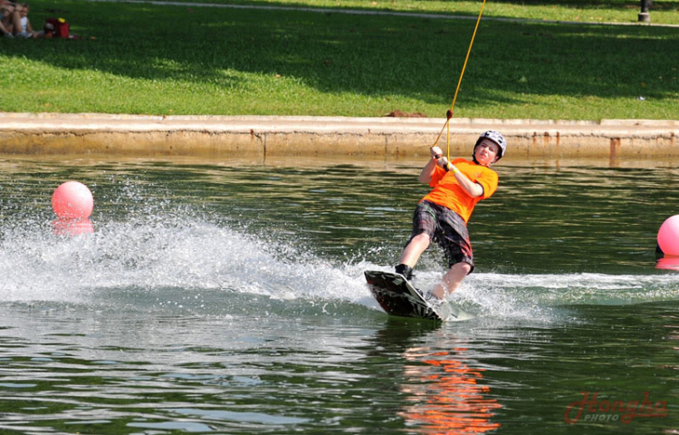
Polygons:
M404 395L397 415L408 433L464 435L501 427L492 419L502 404L470 345L434 322L390 317L378 331L374 356L403 361L403 375L394 379Z

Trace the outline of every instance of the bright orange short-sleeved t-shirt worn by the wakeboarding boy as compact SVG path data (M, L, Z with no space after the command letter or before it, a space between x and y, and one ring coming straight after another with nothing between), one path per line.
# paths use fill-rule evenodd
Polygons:
M429 183L429 186L434 189L422 200L431 201L439 206L450 208L460 215L464 222L469 222L473 206L482 199L490 198L495 193L495 190L497 190L497 172L464 159L455 159L451 163L467 176L468 179L471 179L472 182L479 183L483 187L483 195L478 198L472 198L460 186L460 183L457 182L453 172L446 172L445 169L436 166L432 175L432 181Z

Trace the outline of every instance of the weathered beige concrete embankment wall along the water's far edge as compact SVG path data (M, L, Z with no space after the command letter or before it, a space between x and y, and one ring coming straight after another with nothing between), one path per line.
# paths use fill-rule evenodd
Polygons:
M444 119L2 113L2 154L419 157ZM512 157L679 157L679 121L454 119L451 155L498 130ZM438 145L447 147L446 131Z

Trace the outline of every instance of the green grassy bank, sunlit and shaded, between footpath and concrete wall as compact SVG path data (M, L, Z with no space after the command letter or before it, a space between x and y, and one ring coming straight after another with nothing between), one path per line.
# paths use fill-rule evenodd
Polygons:
M0 110L444 116L474 24L32 2L53 15L84 39L0 39ZM485 21L455 116L679 119L677 58L676 28Z

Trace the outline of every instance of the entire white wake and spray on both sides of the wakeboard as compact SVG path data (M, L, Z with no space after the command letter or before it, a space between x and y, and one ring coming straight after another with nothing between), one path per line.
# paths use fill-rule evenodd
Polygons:
M90 235L63 237L49 225L4 226L0 302L83 303L98 292L125 288L130 298L176 289L378 306L362 272L380 266L366 260L333 263L292 237L257 237L237 225L158 215L95 227ZM416 285L423 289L441 275L417 272ZM677 299L675 275L475 273L451 301L477 315L545 318L563 305Z

